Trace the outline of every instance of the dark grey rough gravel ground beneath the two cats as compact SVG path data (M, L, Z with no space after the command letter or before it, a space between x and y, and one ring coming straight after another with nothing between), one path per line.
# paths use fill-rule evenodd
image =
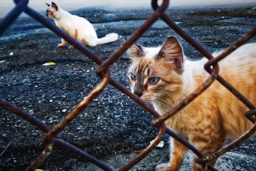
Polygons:
M118 41L90 47L103 59L109 57L141 26L152 10L102 10L86 8L72 13L86 17L99 37L118 33ZM226 48L250 31L256 24L256 11L246 8L211 8L168 10L173 20L207 50ZM168 36L177 36L191 60L200 54L158 20L138 43L159 46ZM255 38L250 41L255 42ZM205 43L212 41L212 43ZM97 65L76 49L58 48L60 38L29 17L20 17L0 38L0 95L44 121L49 127L57 124L79 101L100 82L95 75ZM53 66L42 66L47 62ZM129 87L125 77L129 64L124 54L113 66L111 77ZM44 135L16 115L0 107L0 170L24 170L44 148ZM122 167L145 148L157 135L150 125L153 117L111 85L74 119L61 133L61 138L108 163L113 169ZM9 145L8 145L9 144ZM7 147L8 146L8 147ZM7 147L7 148L6 148ZM168 161L168 136L163 149L154 150L133 170L154 170ZM220 170L256 170L255 138L249 138L221 156L216 167ZM182 170L190 170L189 152ZM54 148L40 167L43 170L97 170L70 152Z

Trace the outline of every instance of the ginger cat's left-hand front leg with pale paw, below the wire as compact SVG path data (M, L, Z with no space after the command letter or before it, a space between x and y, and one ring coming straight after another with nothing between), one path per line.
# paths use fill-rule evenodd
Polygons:
M177 140L170 138L171 154L170 163L157 165L157 171L174 171L179 170L182 166L184 157L188 148L180 144Z

